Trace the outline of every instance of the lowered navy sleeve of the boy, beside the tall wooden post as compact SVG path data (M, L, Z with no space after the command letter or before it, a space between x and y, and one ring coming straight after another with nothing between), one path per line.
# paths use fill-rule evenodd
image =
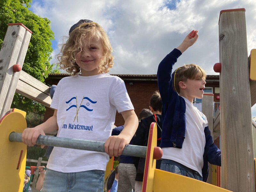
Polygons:
M220 149L213 143L213 139L211 136L211 132L206 126L204 128L205 134L205 152L207 153L207 159L210 164L221 166L221 151Z

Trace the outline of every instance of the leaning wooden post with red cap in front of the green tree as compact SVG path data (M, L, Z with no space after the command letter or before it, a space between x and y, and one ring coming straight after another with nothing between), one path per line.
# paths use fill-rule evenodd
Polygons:
M22 68L31 33L21 23L8 24L0 51L0 118L11 107L20 74L14 73L12 66L19 64Z

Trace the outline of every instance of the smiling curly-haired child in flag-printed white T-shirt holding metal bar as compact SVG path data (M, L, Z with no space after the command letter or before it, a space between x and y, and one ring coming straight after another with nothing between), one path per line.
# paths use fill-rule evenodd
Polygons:
M33 146L40 134L57 129L57 137L106 141L106 153L54 147L42 189L100 192L109 156L122 154L138 127L138 118L124 81L107 74L113 66L112 47L99 24L78 21L60 52L60 67L72 76L62 78L54 92L54 115L35 128L25 129L22 141ZM116 110L124 118L124 129L111 136Z

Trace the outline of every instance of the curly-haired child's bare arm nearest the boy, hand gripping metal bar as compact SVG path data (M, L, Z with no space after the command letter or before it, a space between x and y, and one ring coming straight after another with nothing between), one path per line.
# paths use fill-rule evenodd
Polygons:
M123 131L117 136L110 136L105 142L105 151L109 156L122 154L124 146L130 143L139 124L134 110L123 111L121 114L125 121Z

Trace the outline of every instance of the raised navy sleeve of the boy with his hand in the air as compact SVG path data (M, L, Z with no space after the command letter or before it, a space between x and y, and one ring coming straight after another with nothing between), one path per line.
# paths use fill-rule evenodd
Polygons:
M163 103L168 102L169 89L172 89L171 74L172 66L177 62L181 52L178 49L173 49L166 57L160 62L157 70L158 88Z

